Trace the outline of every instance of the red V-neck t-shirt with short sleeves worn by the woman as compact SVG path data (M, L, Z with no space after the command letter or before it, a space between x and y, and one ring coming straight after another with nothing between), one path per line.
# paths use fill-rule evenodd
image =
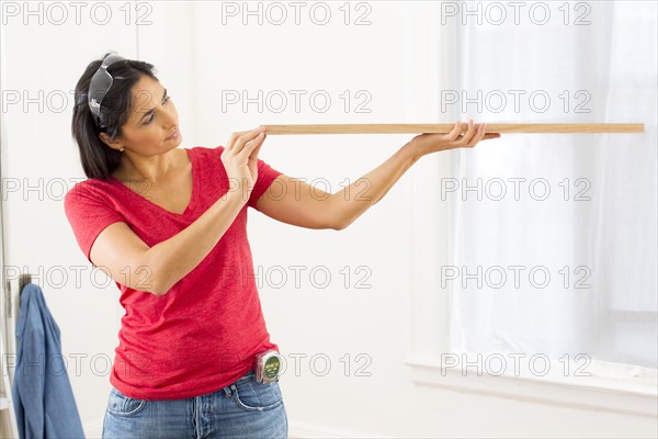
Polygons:
M148 246L192 224L229 190L223 146L185 148L192 161L190 204L177 214L152 203L115 178L80 181L64 206L76 239L89 259L91 246L110 224L123 221ZM279 347L261 311L247 239L247 207L282 172L258 160L258 179L248 203L211 252L164 295L115 282L125 309L110 375L123 394L140 399L178 399L218 391ZM148 195L147 195L148 196Z

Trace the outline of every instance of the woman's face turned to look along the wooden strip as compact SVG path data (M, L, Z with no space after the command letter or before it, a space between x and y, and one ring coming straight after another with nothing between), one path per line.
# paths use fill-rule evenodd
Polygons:
M126 150L150 156L167 153L180 145L180 133L174 138L167 138L178 130L178 112L160 82L141 76L131 89L129 111L131 115L122 126L123 136L112 143L113 147L125 147ZM101 133L101 138L109 143L105 133Z

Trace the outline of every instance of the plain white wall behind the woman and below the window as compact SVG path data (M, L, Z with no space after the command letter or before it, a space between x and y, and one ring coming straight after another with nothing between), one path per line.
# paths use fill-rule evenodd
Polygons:
M434 20L426 2L368 2L372 24L364 26L341 23L343 15L338 8L342 2L327 3L336 19L325 26L314 24L308 13L302 15L298 26L276 26L266 21L258 25L254 18L248 25L239 18L227 18L222 24L218 2L149 4L152 11L147 19L152 24L143 26L126 25L116 9L122 20L106 26L89 21L87 25L64 26L10 23L5 27L7 58L2 59L7 88L27 90L31 95L39 89L46 94L50 90L72 91L89 61L116 49L156 65L178 106L183 147L224 145L231 132L259 124L449 122L438 119L435 103L438 85L444 80L439 76L445 67L433 59L440 45L421 37L436 35L431 31ZM241 2L235 4L241 7ZM354 10L355 3L351 8L352 21L367 12ZM253 105L248 112L235 105L223 111L223 90L248 90L252 97L258 90L265 94L306 90L306 97L325 90L333 103L326 113L310 110L305 99L300 113L294 111L292 102L282 113L266 108L259 113ZM339 98L344 90L350 90L353 100L358 90L366 90L372 95L367 105L372 112L345 113ZM70 188L76 178L83 177L70 137L71 110L72 98L61 113L34 109L25 113L13 108L5 114L3 179L26 179L31 185L43 179L45 188L48 181L63 179ZM342 181L353 182L365 175L410 137L269 136L260 157L288 176L308 182L326 179L331 192L337 192ZM418 204L411 195L420 181L416 172L428 175L439 169L443 159L428 160L411 168L381 203L342 232L292 227L250 211L249 236L257 271L260 266L272 275L261 288L263 312L272 341L288 360L281 386L291 436L656 436L654 416L577 408L568 394L564 403L542 404L412 380L412 371L405 363L412 353L409 344L416 341L411 339L411 285L422 285L424 279L422 271L420 279L411 279L412 273L418 275L410 262L415 252L411 237L418 236L411 230L418 221L412 216ZM422 202L427 202L428 212L440 207L432 199ZM109 375L94 373L89 359L94 354L114 358L123 314L118 292L113 284L92 284L90 267L55 189L42 198L34 192L9 193L5 206L7 263L42 273L36 282L60 326L63 353L71 358L69 376L78 409L88 436L99 437ZM291 266L305 267L299 288ZM350 271L348 288L341 274L345 266ZM366 267L367 275L356 271L361 266ZM79 284L73 278L75 267L82 273ZM330 272L328 288L311 284L308 273L317 267ZM57 268L67 275L61 286L55 285L60 279ZM276 288L282 272L287 283ZM53 278L45 277L47 273ZM324 280L320 274L318 282ZM372 288L355 288L365 277ZM72 364L77 353L88 356L80 373L75 373ZM356 360L360 353L365 354L367 364ZM298 376L294 373L297 354L306 356ZM311 371L308 360L314 354L324 354L331 362L327 375ZM348 376L345 354L350 356ZM371 376L358 376L356 370L364 364ZM317 367L321 369L322 362Z

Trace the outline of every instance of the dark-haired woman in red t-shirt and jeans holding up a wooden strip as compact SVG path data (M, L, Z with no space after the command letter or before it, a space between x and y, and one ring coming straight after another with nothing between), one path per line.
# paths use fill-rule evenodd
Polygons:
M364 177L367 196L318 196L258 158L262 126L234 133L226 147L178 148L175 106L148 63L106 54L75 95L72 134L88 180L67 193L66 215L126 311L105 438L287 437L279 383L256 380L257 356L279 347L253 279L247 207L340 230L423 155L499 137L473 121L419 135Z

